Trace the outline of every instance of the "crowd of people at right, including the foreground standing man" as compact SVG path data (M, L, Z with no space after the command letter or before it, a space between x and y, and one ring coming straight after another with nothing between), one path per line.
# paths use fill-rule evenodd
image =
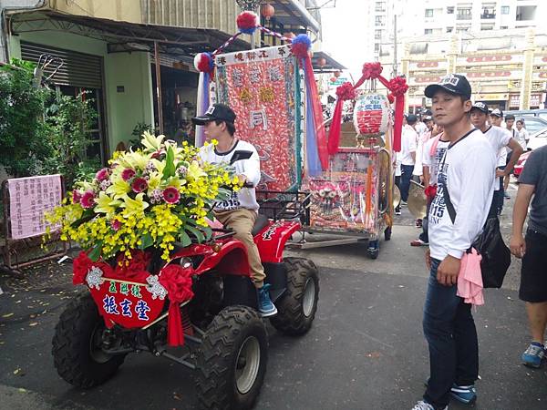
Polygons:
M430 376L423 399L413 410L438 410L447 409L450 398L464 404L477 399L479 343L472 302L462 297L459 282L471 261L480 266L480 255L472 244L486 221L501 214L511 170L526 149L528 135L522 131L521 119L515 125L515 118L504 118L501 109L473 103L464 76L444 77L426 87L425 95L431 98L431 110L406 116L396 181L402 206L408 200L411 179L424 185L428 198L428 216L417 220L422 232L411 245L428 245L430 276L423 330ZM543 267L547 262L547 147L532 152L519 182L510 248L522 258L519 295L526 302L532 333L521 361L540 367L546 354L547 326L547 271ZM396 213L400 214L400 208Z

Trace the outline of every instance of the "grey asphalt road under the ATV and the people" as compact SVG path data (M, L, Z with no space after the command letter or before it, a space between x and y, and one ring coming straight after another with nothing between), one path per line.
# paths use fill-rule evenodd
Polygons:
M505 230L508 218L502 219ZM424 249L408 246L418 235L411 218L404 212L396 222L376 261L366 258L365 243L288 251L319 266L319 309L304 337L268 327L269 363L257 409L409 409L423 394L428 272ZM547 371L520 364L529 337L515 291L519 270L514 261L505 288L486 291L486 305L475 313L481 376L476 409L547 408ZM197 408L191 371L150 354L129 355L114 378L92 390L62 381L50 351L58 314L75 292L69 267L49 264L27 274L26 282L0 276L0 408Z

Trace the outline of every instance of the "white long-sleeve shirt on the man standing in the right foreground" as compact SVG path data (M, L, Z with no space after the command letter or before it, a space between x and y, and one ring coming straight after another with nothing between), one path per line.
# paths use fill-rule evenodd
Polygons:
M438 190L429 210L431 257L460 259L482 231L493 195L496 155L479 129L447 149L439 167ZM443 190L456 210L452 223Z

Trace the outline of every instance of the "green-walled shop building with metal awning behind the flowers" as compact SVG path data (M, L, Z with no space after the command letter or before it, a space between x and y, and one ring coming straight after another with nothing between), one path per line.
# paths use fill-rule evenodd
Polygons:
M269 3L280 24L320 38L305 0ZM105 161L140 126L172 138L190 122L199 79L193 58L235 34L241 11L236 0L0 0L0 60L62 58L52 85L96 101L88 155ZM251 37L240 36L226 51L249 47Z

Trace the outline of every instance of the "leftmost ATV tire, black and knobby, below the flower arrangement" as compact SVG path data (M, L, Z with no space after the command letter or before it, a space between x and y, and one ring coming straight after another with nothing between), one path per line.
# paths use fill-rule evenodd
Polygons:
M123 363L125 354L100 351L96 342L104 326L89 292L79 294L61 313L52 354L57 373L69 384L90 388L104 383Z

